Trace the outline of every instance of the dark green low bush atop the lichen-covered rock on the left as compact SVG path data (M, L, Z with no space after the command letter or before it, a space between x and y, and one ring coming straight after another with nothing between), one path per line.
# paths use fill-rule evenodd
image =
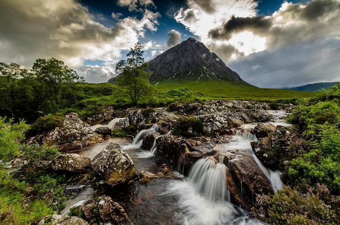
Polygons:
M56 127L63 125L64 116L62 115L45 115L39 117L27 130L27 136L33 137L38 134L45 133Z

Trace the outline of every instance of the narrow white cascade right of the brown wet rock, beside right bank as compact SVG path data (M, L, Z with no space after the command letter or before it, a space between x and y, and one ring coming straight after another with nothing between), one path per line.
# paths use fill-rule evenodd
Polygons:
M281 181L281 171L271 171L270 169L267 169L262 162L256 157L252 150L252 146L250 145L251 142L256 141L257 138L255 134L252 134L246 130L238 130L236 131L236 134L234 136L233 140L236 142L243 142L245 143L245 146L248 144L246 148L243 148L242 150L245 150L249 154L251 154L260 170L264 173L264 175L267 177L269 182L272 185L272 188L274 192L276 192L278 189L281 189L283 187L282 181Z

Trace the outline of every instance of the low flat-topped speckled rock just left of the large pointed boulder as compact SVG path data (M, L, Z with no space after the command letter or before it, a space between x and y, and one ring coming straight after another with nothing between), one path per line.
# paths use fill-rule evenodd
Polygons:
M55 157L48 168L52 171L67 171L83 173L91 167L91 160L78 154L59 154Z

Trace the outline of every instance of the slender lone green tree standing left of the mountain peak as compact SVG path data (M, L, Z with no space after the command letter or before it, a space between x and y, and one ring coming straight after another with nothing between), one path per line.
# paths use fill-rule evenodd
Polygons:
M126 55L127 59L116 64L116 72L119 74L118 84L129 89L133 106L138 105L140 96L151 90L150 73L146 71L149 64L144 62L143 48L143 45L137 43L135 48L130 48Z

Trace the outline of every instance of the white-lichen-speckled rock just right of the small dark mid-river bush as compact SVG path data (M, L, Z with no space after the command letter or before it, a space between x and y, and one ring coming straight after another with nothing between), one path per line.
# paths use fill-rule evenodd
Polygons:
M197 116L203 125L203 131L205 134L225 134L229 129L237 128L243 124L240 121L231 116L227 116L223 113L213 113Z

